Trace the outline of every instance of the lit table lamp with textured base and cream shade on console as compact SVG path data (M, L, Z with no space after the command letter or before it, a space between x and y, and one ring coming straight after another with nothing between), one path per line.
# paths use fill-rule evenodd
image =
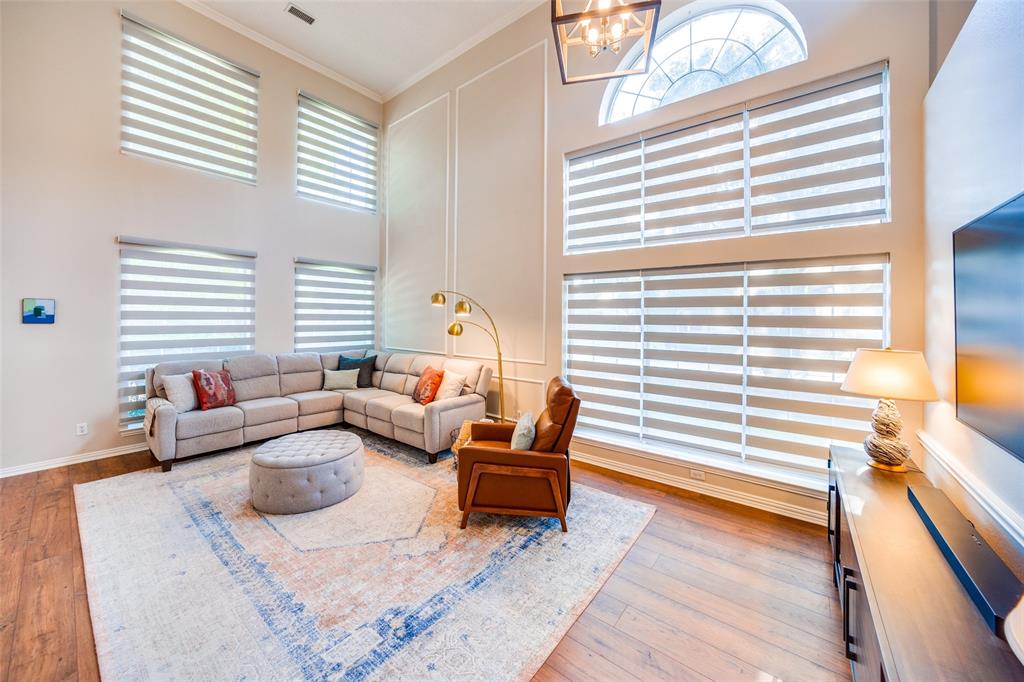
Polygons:
M868 464L886 471L906 471L910 445L900 438L903 421L893 400L937 400L938 393L925 356L918 350L858 348L843 382L843 390L878 397L871 430L864 438Z

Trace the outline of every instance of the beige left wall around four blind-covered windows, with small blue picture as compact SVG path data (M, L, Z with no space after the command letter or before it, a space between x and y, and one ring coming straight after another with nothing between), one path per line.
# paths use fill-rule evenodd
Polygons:
M118 431L118 233L259 253L257 350L292 348L293 256L376 264L379 217L295 196L295 94L381 105L173 2L3 2L0 469ZM119 152L119 9L261 72L256 186ZM57 301L19 324L22 297ZM89 435L75 424L89 423Z

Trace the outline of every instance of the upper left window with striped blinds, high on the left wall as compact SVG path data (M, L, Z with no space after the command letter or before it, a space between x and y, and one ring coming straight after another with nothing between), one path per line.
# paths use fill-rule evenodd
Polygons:
M122 20L121 148L255 182L259 75Z

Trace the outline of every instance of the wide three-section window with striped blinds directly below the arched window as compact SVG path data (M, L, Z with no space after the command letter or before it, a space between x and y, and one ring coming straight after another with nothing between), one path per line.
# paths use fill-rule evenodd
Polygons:
M889 220L885 65L570 155L565 252Z

